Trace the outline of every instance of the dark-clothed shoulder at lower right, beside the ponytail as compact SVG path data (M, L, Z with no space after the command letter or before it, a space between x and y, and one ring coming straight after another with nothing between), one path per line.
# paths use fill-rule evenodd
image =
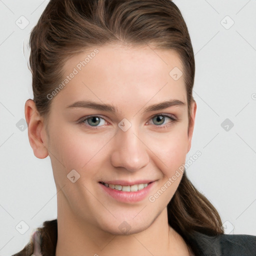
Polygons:
M248 234L206 235L196 232L194 242L202 255L256 256L256 236Z

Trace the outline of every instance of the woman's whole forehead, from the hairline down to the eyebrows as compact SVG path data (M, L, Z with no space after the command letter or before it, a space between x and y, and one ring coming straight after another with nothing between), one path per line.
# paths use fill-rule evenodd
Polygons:
M56 96L68 103L86 98L126 106L136 99L144 104L151 98L151 103L170 98L186 101L182 62L170 49L107 44L72 56L63 71L64 77L75 73Z

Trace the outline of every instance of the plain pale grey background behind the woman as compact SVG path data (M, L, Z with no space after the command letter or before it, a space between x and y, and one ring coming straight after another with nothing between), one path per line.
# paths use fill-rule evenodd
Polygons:
M0 0L1 256L21 250L33 230L57 214L50 159L33 155L24 125L24 103L32 98L27 41L47 2ZM256 0L174 3L188 26L196 66L187 159L197 150L201 156L187 175L218 210L225 233L256 235Z

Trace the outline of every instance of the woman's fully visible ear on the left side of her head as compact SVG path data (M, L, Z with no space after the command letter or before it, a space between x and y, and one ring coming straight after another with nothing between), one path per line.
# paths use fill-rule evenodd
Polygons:
M43 118L36 109L32 99L25 102L25 118L28 130L28 139L37 158L45 158L48 155L46 148L46 132Z

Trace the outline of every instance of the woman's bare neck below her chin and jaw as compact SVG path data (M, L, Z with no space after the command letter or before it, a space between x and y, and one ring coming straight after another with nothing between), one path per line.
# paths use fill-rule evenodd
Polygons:
M56 256L189 255L182 237L168 225L167 208L140 232L109 233L75 214L68 203L57 198Z

